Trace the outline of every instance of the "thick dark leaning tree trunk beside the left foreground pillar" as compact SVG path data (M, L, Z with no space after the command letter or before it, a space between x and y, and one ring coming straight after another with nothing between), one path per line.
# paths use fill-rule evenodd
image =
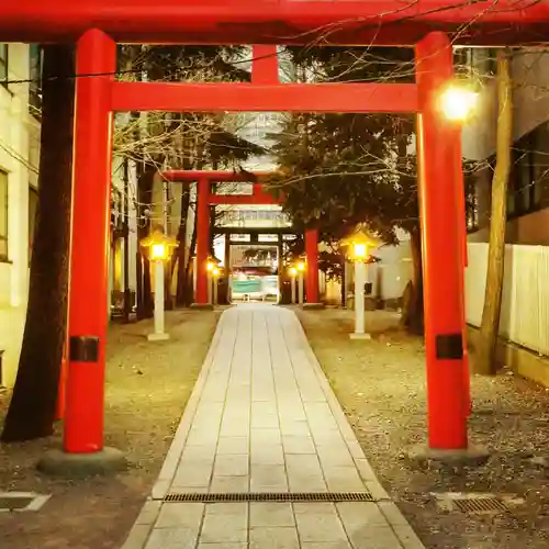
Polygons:
M75 54L44 46L38 212L19 370L1 440L52 435L66 340Z

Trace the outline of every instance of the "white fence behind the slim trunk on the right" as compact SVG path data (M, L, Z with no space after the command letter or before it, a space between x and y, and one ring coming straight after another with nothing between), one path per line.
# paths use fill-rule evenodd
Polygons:
M488 244L469 243L467 322L480 326L486 284ZM507 245L500 335L549 356L549 247Z

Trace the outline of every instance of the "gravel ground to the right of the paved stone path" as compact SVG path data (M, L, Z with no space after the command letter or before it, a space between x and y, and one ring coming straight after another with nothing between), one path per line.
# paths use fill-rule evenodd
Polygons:
M310 343L380 481L427 549L547 549L549 392L503 370L472 378L473 444L492 450L480 468L425 469L405 450L425 442L423 341L397 328L391 313L367 313L371 340L351 341L352 313L299 312ZM440 511L433 493L478 492L524 498L501 514Z

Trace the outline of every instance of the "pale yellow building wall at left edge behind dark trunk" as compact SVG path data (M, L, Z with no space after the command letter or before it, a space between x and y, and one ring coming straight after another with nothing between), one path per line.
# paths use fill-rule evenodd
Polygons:
M30 85L38 49L0 44L0 385L14 381L37 203L40 93Z

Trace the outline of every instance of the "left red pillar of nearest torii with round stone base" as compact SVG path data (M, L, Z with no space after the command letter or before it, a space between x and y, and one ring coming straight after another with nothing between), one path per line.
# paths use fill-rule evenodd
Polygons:
M78 41L68 298L68 371L63 451L38 463L45 472L96 474L125 458L103 446L107 294L111 214L111 83L116 44L102 31Z

